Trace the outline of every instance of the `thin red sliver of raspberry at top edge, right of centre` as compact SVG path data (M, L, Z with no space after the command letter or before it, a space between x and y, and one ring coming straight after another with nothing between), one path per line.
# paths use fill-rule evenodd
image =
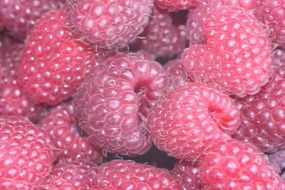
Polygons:
M201 0L155 0L155 4L169 12L187 10L196 7Z

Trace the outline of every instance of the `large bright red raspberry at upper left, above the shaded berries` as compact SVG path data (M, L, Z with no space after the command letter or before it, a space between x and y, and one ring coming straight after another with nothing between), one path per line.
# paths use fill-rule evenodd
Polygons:
M93 49L69 32L63 9L49 11L25 42L19 81L36 103L56 105L76 92L92 69Z

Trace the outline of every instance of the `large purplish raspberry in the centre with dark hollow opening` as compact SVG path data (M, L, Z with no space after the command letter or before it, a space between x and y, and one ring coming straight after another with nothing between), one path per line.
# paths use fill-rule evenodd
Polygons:
M118 53L102 65L74 97L79 126L107 151L143 154L151 146L145 117L166 91L167 75L142 54Z

